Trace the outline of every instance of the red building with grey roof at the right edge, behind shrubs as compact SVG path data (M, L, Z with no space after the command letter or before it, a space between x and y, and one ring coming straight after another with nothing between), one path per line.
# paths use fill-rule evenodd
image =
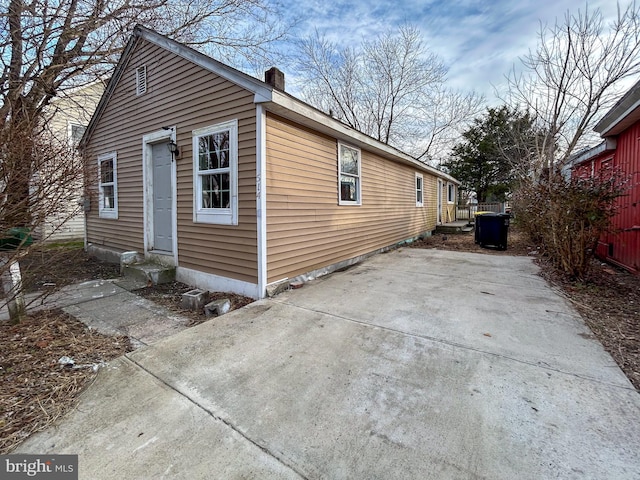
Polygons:
M640 273L640 82L600 120L594 130L604 141L574 157L573 175L595 176L614 168L628 178L628 191L618 199L611 233L598 242L599 258Z

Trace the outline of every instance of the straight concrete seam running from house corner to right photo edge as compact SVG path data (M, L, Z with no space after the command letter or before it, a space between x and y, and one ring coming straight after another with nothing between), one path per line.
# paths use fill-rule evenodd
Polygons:
M419 335L419 334L416 334L416 333L403 332L402 330L396 330L394 328L385 327L383 325L376 325L374 323L366 323L366 322L363 322L363 321L360 321L360 320L355 320L353 318L343 317L341 315L336 315L336 314L333 314L333 313L323 312L322 310L315 310L313 308L301 307L300 305L294 305L292 303L289 303L289 302L286 302L286 301L282 301L282 300L279 300L277 298L272 299L272 301L280 303L281 305L287 305L287 306L290 306L290 307L298 308L300 310L306 310L308 312L319 313L319 314L327 315L327 316L333 317L333 318L339 318L341 320L346 320L348 322L352 322L352 323L355 323L355 324L358 324L358 325L362 325L364 327L379 328L380 330L385 330L387 332L397 333L397 334L400 334L400 335L406 335L408 337L421 338L423 340L428 340L428 341L431 341L431 342L434 342L434 343L440 343L440 344L443 344L443 345L449 345L451 347L457 347L457 348L461 348L461 349L468 350L468 351L471 351L471 352L476 352L476 353L480 353L480 354L483 354L483 355L496 357L496 358L502 358L502 359L505 359L505 360L511 360L511 361L514 361L514 362L517 362L517 363L520 363L520 364L523 364L523 365L528 365L528 366L531 366L531 367L541 368L543 370L549 370L549 371L552 371L552 372L555 372L555 373L561 373L563 375L568 375L568 376L571 376L571 377L580 378L582 380L587 380L587 381L594 382L594 383L597 383L597 384L600 384L600 385L606 385L606 386L609 386L609 387L619 388L621 390L628 390L628 391L636 392L636 389L633 386L624 386L624 385L618 385L618 384L610 383L610 382L603 382L602 380L598 380L597 378L589 377L587 375L580 375L578 373L573 373L573 372L567 372L567 371L564 371L564 370L560 370L560 369L554 368L554 367L552 367L552 366L550 366L548 364L545 365L543 363L528 362L526 360L521 360L519 358L510 357L508 355L503 355L503 354L500 354L500 353L489 352L489 351L482 350L482 349L479 349L479 348L475 348L475 347L472 347L470 345L465 345L465 344L462 344L462 343L451 342L451 341L448 341L448 340L444 340L444 339L437 338L437 337L431 337L431 336L428 336L428 335Z

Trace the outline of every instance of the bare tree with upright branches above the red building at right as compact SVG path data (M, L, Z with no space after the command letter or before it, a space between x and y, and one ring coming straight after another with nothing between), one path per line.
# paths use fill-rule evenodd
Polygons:
M521 59L524 73L507 77L506 101L539 122L534 176L566 164L593 140L593 126L640 73L640 7L618 5L608 25L600 10L568 12L562 22L541 25L538 47Z

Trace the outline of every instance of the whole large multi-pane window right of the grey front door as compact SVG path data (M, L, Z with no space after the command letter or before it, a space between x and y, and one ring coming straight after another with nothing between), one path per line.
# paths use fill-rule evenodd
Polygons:
M238 224L238 123L193 132L194 221Z

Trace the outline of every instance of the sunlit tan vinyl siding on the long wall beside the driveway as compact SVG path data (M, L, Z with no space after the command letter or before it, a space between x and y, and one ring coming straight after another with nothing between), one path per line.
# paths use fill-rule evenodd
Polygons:
M268 282L291 278L435 228L436 179L362 151L362 205L338 205L337 141L267 116Z

